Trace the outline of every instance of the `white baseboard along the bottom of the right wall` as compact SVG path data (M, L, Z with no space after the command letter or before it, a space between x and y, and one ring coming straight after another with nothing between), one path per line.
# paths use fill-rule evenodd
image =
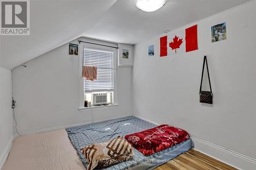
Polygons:
M147 122L151 122L155 125L160 125L152 120L145 119L141 116L134 115L138 118L146 120ZM192 141L195 144L195 150L208 155L214 159L217 159L223 163L226 163L230 166L233 166L237 169L246 169L246 170L254 170L256 169L256 159L246 156L244 154L238 153L236 151L232 151L225 147L221 147L218 144L211 143L204 139L198 138L196 136L190 135Z

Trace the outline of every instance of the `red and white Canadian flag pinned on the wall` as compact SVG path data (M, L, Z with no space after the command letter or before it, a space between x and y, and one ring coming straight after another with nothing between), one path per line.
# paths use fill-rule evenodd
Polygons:
M160 57L198 50L197 25L160 38Z

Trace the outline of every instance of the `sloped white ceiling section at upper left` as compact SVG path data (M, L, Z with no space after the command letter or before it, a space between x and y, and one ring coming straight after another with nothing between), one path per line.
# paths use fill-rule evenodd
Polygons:
M0 36L0 66L12 69L92 29L117 0L30 0L30 36Z

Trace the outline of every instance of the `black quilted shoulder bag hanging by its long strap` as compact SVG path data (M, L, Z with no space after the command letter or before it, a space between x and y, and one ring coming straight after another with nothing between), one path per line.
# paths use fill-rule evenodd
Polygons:
M210 76L209 76L209 70L208 70L208 64L206 56L204 56L204 63L203 63L203 70L202 70L202 78L201 78L201 84L200 84L200 103L208 103L212 104L212 91L211 91L211 85L210 85L210 91L202 91L202 82L203 82L203 75L204 75L204 65L206 62L206 68L207 68L207 74L209 79L209 85L210 85Z

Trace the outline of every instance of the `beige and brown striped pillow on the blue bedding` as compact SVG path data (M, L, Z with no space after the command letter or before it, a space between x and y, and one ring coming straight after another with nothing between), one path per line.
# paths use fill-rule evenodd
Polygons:
M105 167L115 163L130 160L134 156L132 145L122 136L97 144L90 144L81 149L88 161L88 170L97 167Z

